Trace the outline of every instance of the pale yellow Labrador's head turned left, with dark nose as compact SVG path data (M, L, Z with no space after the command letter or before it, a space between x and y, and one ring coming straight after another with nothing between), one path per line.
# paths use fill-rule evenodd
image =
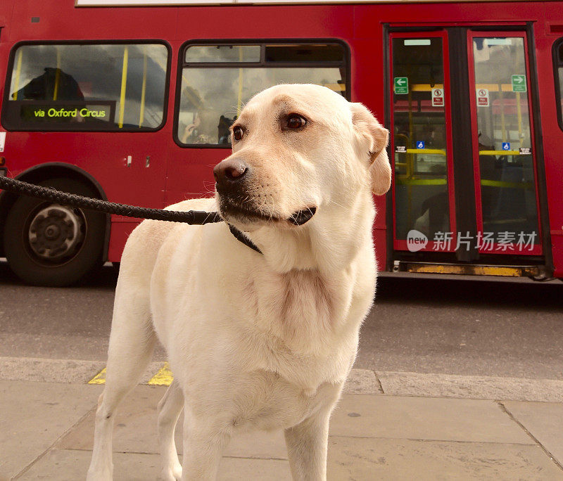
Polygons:
M326 87L262 91L231 132L232 155L213 170L216 198L222 217L245 231L300 229L391 184L388 131L362 104Z

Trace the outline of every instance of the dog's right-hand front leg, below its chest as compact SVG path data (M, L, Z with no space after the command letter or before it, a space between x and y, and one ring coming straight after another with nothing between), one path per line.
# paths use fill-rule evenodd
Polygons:
M285 430L291 475L295 481L327 479L327 448L331 409L323 409Z

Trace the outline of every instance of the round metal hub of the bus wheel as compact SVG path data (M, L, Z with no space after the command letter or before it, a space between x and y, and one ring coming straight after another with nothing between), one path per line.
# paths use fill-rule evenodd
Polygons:
M84 239L84 217L77 209L52 204L39 210L30 223L30 248L42 259L73 255Z

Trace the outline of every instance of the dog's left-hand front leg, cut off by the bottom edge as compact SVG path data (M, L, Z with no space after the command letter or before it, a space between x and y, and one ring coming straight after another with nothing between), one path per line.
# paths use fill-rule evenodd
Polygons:
M195 416L184 407L184 456L182 480L215 480L234 423L228 416Z

